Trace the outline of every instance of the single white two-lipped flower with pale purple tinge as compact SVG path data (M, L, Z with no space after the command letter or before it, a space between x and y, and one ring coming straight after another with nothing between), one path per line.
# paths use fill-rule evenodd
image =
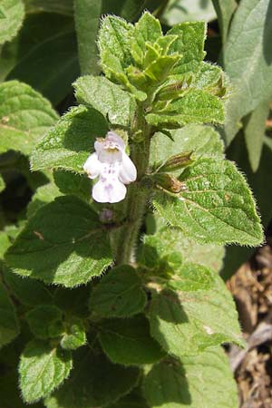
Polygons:
M124 141L109 131L105 139L95 141L94 149L83 166L90 179L99 177L92 188L92 198L98 202L121 201L127 192L124 184L137 178L137 170L125 153Z

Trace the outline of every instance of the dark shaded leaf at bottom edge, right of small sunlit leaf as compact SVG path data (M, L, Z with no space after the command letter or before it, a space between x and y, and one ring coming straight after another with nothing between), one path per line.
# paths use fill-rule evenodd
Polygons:
M114 403L129 393L139 377L136 367L112 364L104 355L82 347L74 355L70 378L45 400L46 408L86 408Z

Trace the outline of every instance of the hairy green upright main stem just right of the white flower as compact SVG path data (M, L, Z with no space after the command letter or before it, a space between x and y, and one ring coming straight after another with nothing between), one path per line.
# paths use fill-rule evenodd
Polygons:
M141 131L142 141L131 146L131 160L137 168L137 181L128 188L125 201L125 221L121 227L116 245L116 264L131 262L139 237L149 192L141 187L141 179L145 175L150 160L151 127L144 119L144 106L140 105L132 124L132 135Z

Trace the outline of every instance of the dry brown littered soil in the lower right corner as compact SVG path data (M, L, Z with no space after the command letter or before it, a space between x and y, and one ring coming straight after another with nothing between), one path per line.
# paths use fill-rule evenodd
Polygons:
M248 347L231 346L240 408L272 408L272 235L228 281Z

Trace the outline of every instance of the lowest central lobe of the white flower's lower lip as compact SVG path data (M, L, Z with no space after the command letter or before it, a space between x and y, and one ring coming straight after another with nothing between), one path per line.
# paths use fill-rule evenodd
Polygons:
M119 202L126 196L127 189L119 180L99 180L92 188L92 198L97 202Z

